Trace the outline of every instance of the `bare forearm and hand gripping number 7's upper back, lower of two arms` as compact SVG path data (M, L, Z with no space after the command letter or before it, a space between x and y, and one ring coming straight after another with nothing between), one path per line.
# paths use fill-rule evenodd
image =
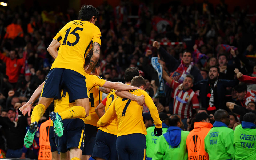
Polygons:
M115 91L115 94L122 98L127 98L132 101L136 101L138 105L142 106L145 102L144 95L136 96L134 94L129 93L128 91Z

